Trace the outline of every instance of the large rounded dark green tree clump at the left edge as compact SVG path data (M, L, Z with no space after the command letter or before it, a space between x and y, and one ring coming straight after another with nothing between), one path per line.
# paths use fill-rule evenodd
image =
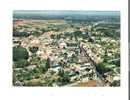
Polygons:
M28 59L29 54L24 47L13 47L13 61Z

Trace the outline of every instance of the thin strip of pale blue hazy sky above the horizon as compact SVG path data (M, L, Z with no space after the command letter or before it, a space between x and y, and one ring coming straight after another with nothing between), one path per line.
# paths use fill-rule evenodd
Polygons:
M14 14L46 14L46 15L120 15L119 11L80 11L80 10L15 10Z

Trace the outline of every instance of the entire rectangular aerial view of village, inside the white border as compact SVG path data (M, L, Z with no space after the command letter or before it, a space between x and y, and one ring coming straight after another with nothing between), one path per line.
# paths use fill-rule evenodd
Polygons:
M120 12L15 10L12 28L13 86L120 86Z

